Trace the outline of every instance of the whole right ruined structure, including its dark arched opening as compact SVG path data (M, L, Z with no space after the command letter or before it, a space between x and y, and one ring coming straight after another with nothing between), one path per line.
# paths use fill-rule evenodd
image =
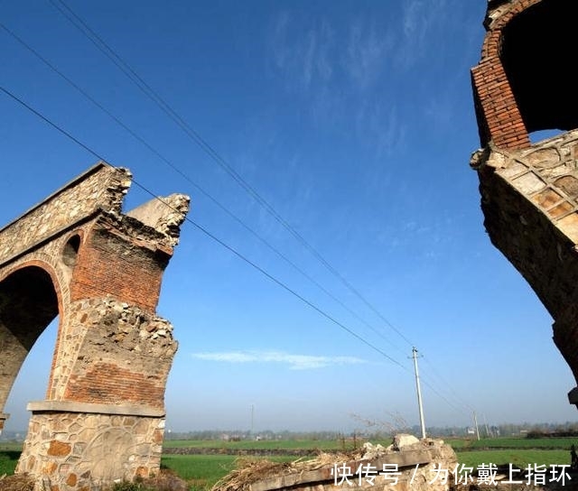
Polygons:
M555 345L578 381L576 14L567 0L489 0L471 70L482 146L471 165L489 237L554 318ZM532 144L538 130L558 133ZM578 403L578 388L568 395Z

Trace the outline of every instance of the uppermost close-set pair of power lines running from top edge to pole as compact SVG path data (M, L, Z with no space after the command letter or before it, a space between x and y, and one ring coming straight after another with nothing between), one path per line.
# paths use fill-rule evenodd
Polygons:
M138 73L133 69L126 60L123 60L117 53L117 51L113 50L107 42L105 42L101 36L98 35L92 28L90 28L89 24L86 23L78 14L76 14L69 5L64 2L64 0L49 0L51 5L53 5L61 14L70 22L72 23L82 34L92 42L99 51L101 51L109 60L111 60L118 69L120 69L123 73L125 73L126 77L130 79L133 83L135 83L136 87L138 87L141 91L143 91L144 95L149 97L161 110L165 113L166 116L169 116L172 121L181 127L182 131L189 135L191 139L200 146L200 148L207 153L213 162L219 164L219 166L228 173L228 175L238 183L241 188L247 191L253 199L256 200L259 205L266 209L266 211L273 217L275 220L281 224L285 230L287 230L294 238L301 244L305 249L309 251L313 257L315 257L325 268L332 273L337 279L340 280L340 283L343 283L345 287L352 292L360 301L362 301L369 310L372 310L380 320L382 320L390 329L394 330L396 334L406 341L408 346L413 347L413 343L406 338L406 336L401 332L400 329L397 329L387 318L371 303L369 302L365 296L363 296L359 290L357 290L335 267L333 267L322 255L321 253L313 247L299 232L297 232L294 227L292 227L276 210L273 208L269 202L264 199L250 184L248 184L245 179L238 174L237 171L223 158L221 155L209 144L205 141L200 134L195 131L191 125L189 125L183 118L180 116L166 101L164 101L163 97L161 97L153 88L150 87L149 84L146 83L144 79L142 79ZM56 2L60 5L58 5Z

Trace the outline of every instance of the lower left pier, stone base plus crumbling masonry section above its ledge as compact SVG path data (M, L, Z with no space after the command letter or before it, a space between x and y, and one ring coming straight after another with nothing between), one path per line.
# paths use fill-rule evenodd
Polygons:
M172 325L111 298L76 301L62 322L51 400L32 417L16 473L51 491L158 473Z

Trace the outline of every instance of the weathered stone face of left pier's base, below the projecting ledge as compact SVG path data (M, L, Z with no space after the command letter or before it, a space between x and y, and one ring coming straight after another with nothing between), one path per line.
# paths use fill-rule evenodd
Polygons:
M33 412L30 426L38 425L46 431L29 431L16 470L49 477L63 491L107 483L110 479L148 477L159 470L162 447L158 434L162 421L138 416L123 418L118 424L117 416L102 412ZM78 441L70 444L46 440L57 428L62 438L70 442L74 435ZM135 438L137 433L140 438Z

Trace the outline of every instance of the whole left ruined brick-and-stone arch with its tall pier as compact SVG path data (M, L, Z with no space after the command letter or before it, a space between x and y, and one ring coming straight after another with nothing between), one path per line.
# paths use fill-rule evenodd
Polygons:
M46 400L17 473L71 491L157 472L164 387L176 351L155 315L189 198L122 214L131 183L104 162L0 229L0 429L23 360L59 318Z

